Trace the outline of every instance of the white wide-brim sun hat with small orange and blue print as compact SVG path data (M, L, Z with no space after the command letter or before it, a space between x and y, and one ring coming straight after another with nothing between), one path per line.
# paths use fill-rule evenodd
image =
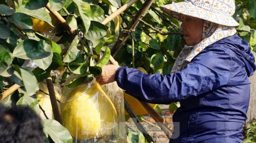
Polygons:
M180 21L183 15L189 15L220 25L239 25L232 17L235 13L234 0L185 0L160 6L160 9Z

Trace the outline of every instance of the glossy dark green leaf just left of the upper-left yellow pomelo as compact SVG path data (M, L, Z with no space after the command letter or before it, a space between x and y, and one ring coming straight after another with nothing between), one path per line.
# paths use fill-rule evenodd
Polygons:
M33 21L28 15L24 13L16 12L10 17L8 17L8 19L13 24L19 25L24 29L32 29Z

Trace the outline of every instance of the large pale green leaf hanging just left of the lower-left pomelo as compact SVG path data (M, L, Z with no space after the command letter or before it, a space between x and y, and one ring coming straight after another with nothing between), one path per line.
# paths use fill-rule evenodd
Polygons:
M35 75L28 69L20 68L17 65L14 65L14 69L22 77L22 82L28 95L31 96L35 94L35 92L39 90L39 86Z

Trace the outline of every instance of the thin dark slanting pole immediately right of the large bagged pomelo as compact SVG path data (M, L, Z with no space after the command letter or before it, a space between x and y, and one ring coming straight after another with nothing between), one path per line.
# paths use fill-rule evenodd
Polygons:
M133 120L133 122L135 123L135 125L137 126L138 130L142 133L142 135L145 137L145 139L149 142L149 143L154 143L154 140L151 138L151 136L149 136L149 133L147 133L147 131L145 130L145 128L142 126L142 124L140 123L140 120L138 119L138 117L135 115L135 113L132 111L132 109L130 108L130 106L128 105L127 101L125 101L125 110L127 111L127 113L130 115L131 119Z

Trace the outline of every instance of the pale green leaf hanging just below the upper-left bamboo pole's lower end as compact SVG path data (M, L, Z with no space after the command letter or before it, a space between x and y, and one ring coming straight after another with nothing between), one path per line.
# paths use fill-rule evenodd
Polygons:
M71 42L66 54L64 55L63 62L72 62L80 55L80 50L77 49L77 44L79 43L78 35L74 37Z

